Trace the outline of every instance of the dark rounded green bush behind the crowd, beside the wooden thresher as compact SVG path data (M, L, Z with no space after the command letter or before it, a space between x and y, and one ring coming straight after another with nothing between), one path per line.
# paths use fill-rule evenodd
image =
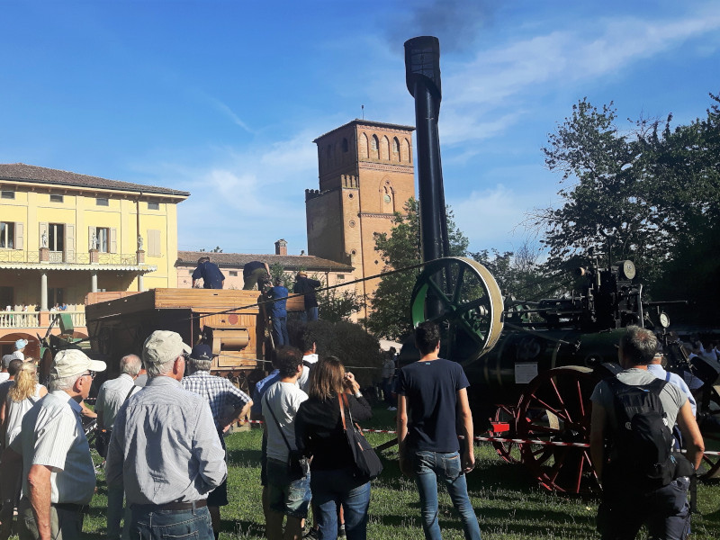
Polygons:
M317 320L303 325L301 320L288 319L288 332L293 345L300 344L304 333L315 341L320 358L338 356L347 371L355 374L360 386L369 386L382 377L383 357L380 343L354 322Z

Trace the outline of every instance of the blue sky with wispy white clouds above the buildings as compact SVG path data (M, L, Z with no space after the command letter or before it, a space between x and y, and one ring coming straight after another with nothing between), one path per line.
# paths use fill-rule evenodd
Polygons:
M186 190L180 249L307 247L320 134L414 124L403 42L440 40L446 201L471 249L513 249L557 204L547 133L587 96L621 119L702 116L720 92L707 2L0 3L0 163Z

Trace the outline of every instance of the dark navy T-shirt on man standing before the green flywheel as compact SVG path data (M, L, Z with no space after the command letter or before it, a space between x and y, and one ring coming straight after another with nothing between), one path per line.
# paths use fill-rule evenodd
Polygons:
M458 452L457 392L470 386L461 365L438 358L406 365L398 393L408 405L408 446L430 452Z

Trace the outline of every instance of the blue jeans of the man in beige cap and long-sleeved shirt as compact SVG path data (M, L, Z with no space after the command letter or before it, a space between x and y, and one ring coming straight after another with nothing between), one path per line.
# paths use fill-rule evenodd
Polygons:
M193 540L215 539L207 507L157 512L132 509L130 538L167 540L180 537L193 538Z

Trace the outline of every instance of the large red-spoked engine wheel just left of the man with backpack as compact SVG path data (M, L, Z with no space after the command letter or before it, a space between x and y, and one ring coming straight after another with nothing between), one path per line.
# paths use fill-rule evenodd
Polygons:
M590 368L560 367L536 376L518 404L522 462L546 490L599 492L590 462L590 394L599 382Z

